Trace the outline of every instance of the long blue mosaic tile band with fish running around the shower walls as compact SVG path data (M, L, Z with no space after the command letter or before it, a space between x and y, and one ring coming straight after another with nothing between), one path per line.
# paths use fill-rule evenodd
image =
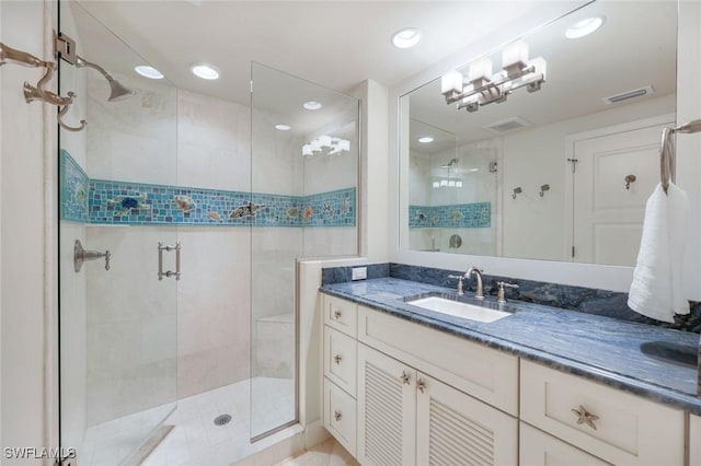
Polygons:
M67 152L66 160L80 170ZM61 190L61 206L67 206L61 210L64 220L97 224L355 226L356 188L285 196L89 179L80 172L88 186L84 214L64 214L74 202L70 190ZM61 182L71 185L62 175Z

